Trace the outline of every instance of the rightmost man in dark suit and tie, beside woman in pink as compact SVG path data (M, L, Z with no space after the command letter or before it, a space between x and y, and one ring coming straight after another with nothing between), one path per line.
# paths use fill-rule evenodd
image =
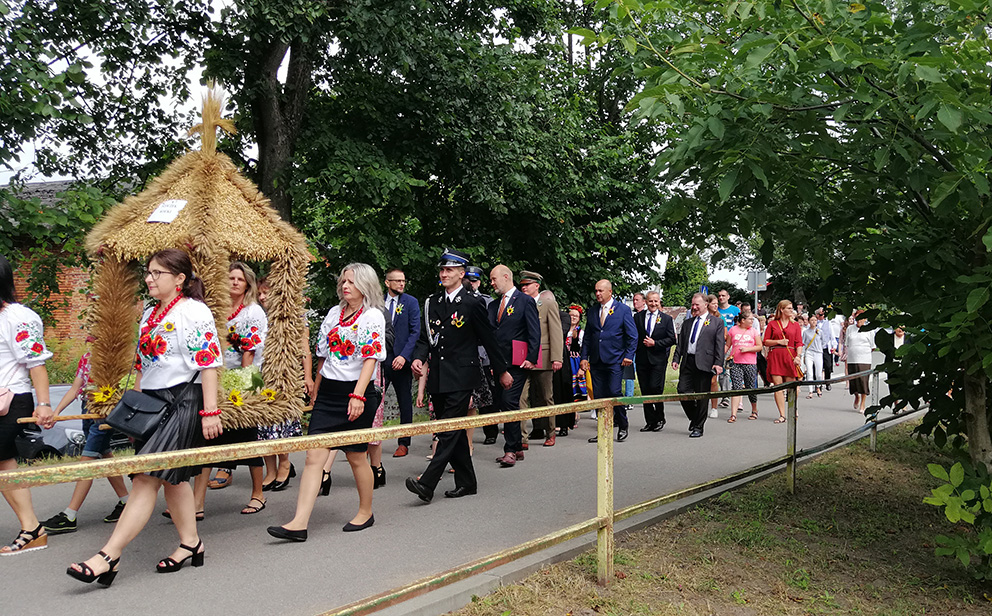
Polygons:
M692 296L690 316L682 322L675 355L672 356L672 369L679 370L680 394L706 393L710 390L714 374L723 371L724 330L720 317L710 316L706 311L706 296L696 293ZM706 423L708 400L683 400L682 409L689 418L689 437L703 435Z

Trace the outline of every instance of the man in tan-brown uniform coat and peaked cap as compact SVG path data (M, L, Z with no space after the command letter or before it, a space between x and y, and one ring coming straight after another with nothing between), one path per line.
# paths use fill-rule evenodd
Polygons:
M541 324L541 352L534 368L527 375L527 382L520 394L522 409L552 406L555 403L552 376L561 370L562 365L565 343L562 340L558 302L553 295L545 296L544 299L540 297L543 282L544 278L536 272L520 272L520 290L537 302L537 318ZM534 419L534 431L530 433L530 438L544 439L545 447L554 446L555 416Z

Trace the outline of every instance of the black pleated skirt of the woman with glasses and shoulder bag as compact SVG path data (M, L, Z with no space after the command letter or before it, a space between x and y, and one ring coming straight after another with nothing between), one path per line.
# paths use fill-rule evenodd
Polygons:
M202 447L206 444L207 440L203 438L203 427L200 423L200 409L203 408L203 387L199 383L182 383L168 389L145 389L142 391L172 403L174 409L166 423L159 427L147 441L134 442L135 453L179 451L180 449ZM188 481L190 477L199 472L199 466L184 466L152 471L147 474L177 485Z

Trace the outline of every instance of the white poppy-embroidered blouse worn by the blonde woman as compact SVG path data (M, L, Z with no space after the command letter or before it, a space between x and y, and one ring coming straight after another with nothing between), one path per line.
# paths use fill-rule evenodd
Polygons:
M320 374L334 381L357 381L366 359L386 359L386 318L378 308L365 308L354 324L341 327L340 316L341 306L335 306L320 324L317 357L324 358Z

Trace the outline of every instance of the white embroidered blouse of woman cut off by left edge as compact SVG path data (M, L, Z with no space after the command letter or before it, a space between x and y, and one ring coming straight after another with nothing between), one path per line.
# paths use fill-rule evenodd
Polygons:
M51 357L41 317L21 304L7 304L0 310L0 387L15 394L29 393L29 371Z

